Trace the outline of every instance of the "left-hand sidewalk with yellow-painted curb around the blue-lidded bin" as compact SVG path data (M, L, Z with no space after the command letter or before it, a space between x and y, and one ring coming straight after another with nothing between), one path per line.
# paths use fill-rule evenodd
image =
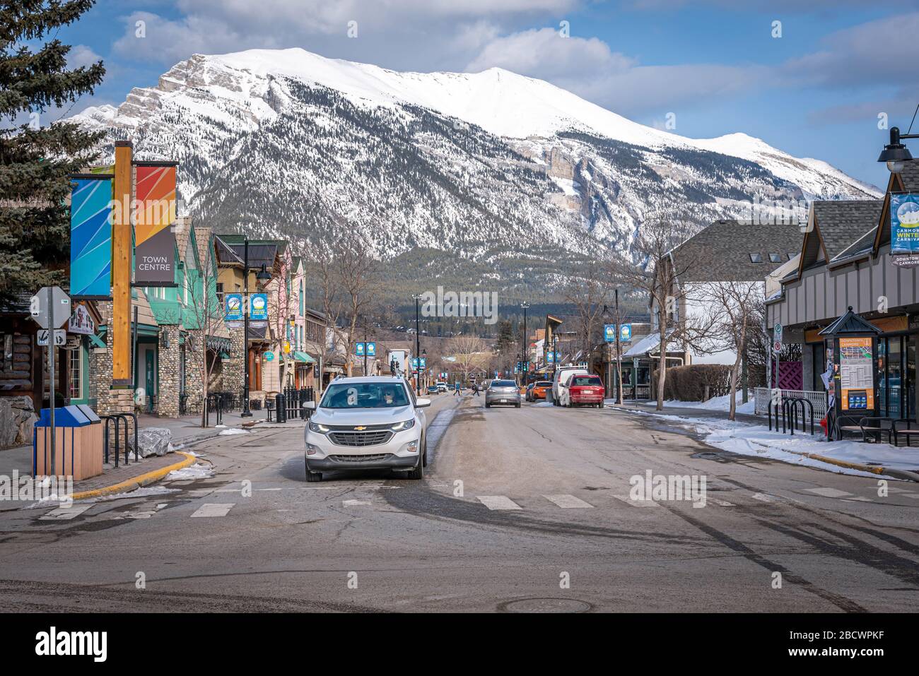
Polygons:
M187 415L177 419L139 415L137 417L139 429L159 427L165 428L172 433L170 443L174 452L167 453L165 456L149 456L146 458L138 456L136 461L134 460L133 452L130 452L129 462L125 464L124 449L122 448L119 453L118 468L115 467L113 461L103 466L103 472L99 476L74 482L74 499L80 500L86 497L95 497L96 495L134 490L138 486L162 479L170 471L187 467L194 462L194 456L183 453L183 450L187 450L205 439L219 436L225 430L233 427L238 428L243 424L247 427L251 427L253 424L258 426L267 424L265 419L265 411L254 411L251 418L243 418L239 413L224 413L221 427L211 426L205 429L200 427L201 418L199 415ZM216 420L215 416L211 416L210 420L213 423ZM298 420L297 423L301 422ZM291 422L291 424L296 423ZM110 450L114 451L114 449ZM12 478L17 475L20 478L28 478L31 473L31 445L0 450L0 476ZM31 501L28 503L30 504ZM0 511L19 509L24 506L28 506L28 504L23 504L22 501L17 500L0 500Z

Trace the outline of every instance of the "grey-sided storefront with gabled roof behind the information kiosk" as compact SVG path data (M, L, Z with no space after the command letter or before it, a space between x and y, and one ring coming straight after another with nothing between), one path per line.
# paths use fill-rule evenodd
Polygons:
M919 266L891 254L891 190L919 192L919 166L891 175L884 199L815 202L798 268L766 301L767 326L802 347L803 388L825 392L827 354L820 332L847 308L877 329L873 355L875 411L917 420Z

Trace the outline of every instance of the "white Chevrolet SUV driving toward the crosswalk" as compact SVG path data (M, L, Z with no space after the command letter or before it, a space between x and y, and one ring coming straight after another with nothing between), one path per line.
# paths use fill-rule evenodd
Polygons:
M421 479L427 464L425 407L401 377L343 377L325 390L306 426L306 480L323 472L393 469Z

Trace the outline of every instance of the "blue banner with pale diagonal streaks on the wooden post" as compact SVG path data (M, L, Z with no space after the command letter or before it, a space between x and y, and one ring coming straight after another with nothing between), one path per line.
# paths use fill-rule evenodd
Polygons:
M112 177L81 175L70 202L70 293L74 298L111 298Z

